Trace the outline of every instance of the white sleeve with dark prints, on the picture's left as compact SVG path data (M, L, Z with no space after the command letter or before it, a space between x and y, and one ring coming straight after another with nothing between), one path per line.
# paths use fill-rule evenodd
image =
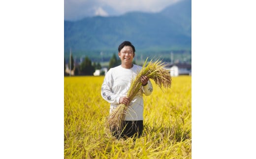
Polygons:
M114 94L112 90L112 81L113 78L111 72L108 71L101 86L101 96L109 103L119 104L120 96Z

